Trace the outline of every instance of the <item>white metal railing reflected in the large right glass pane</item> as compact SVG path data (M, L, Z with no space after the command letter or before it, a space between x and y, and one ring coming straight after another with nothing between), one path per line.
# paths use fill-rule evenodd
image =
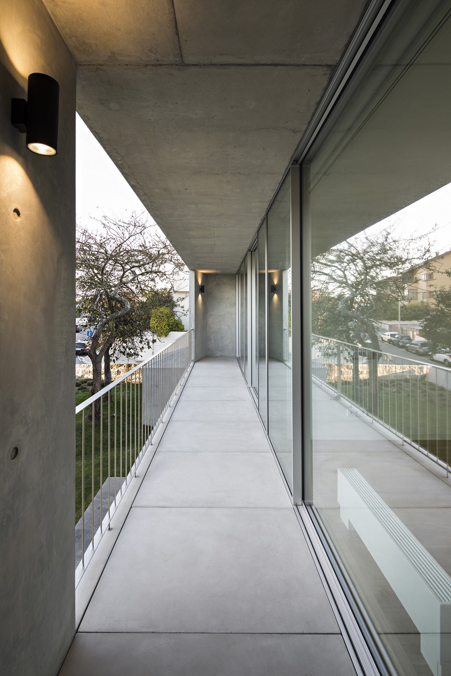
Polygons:
M312 374L337 399L433 458L448 477L450 368L314 335Z

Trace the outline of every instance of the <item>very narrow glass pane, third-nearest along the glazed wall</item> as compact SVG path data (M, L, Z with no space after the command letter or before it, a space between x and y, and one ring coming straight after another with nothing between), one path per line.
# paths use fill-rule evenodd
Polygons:
M266 224L263 224L258 231L258 410L267 429L266 302Z

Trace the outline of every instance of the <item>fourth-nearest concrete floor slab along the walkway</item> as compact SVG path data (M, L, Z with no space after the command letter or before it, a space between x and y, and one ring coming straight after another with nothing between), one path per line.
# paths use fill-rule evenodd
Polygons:
M270 453L258 420L203 422L171 418L158 450Z

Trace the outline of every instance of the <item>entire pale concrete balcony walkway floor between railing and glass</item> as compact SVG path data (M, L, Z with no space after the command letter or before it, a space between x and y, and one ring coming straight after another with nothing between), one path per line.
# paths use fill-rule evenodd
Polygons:
M351 676L235 359L197 362L60 676Z

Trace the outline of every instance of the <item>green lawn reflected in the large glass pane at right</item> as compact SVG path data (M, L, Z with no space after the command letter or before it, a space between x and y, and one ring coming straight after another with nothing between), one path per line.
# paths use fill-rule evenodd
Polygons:
M341 392L367 409L367 380L360 381L357 391L352 383L342 383ZM451 460L451 392L444 387L408 378L381 379L378 417L444 462Z

